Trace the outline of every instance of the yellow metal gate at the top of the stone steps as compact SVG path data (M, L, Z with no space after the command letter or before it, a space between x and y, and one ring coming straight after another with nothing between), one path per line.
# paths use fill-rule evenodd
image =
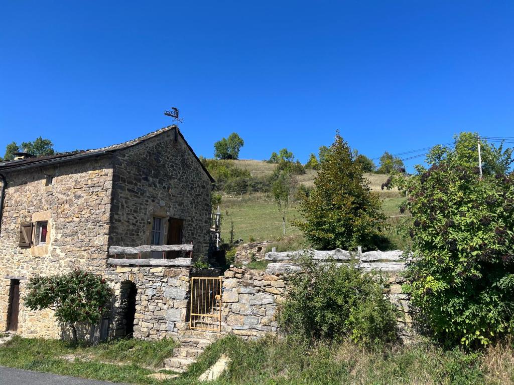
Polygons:
M191 277L191 329L220 332L223 277Z

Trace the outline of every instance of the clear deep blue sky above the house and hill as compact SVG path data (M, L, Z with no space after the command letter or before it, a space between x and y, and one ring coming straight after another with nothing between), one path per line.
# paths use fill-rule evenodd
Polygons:
M4 1L0 155L97 148L171 124L198 155L302 162L340 130L374 158L463 130L514 136L510 1Z

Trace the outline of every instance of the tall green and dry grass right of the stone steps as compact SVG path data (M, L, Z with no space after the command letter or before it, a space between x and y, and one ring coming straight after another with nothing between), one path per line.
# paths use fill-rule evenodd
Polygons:
M214 382L219 385L514 383L514 350L508 343L466 353L429 342L365 350L349 341L328 345L290 338L243 341L233 336L211 345L183 379L197 378L221 354L232 362Z

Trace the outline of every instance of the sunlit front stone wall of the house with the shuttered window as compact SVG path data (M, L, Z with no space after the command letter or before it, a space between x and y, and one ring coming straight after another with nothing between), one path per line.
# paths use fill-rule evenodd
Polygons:
M54 175L45 185L45 174ZM105 268L113 169L108 158L58 168L5 172L6 188L0 233L0 331L7 328L10 279L20 279L18 333L25 337L60 337L52 312L31 312L23 304L27 279L80 267L101 274ZM19 247L20 225L48 221L45 245Z

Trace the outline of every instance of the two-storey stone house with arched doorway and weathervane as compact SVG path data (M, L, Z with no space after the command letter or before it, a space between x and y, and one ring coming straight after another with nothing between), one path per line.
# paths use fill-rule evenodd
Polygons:
M116 266L108 250L193 244L193 260L207 260L212 182L176 126L95 150L0 163L0 331L65 334L51 311L32 312L23 297L28 278L76 268L114 288L109 334L158 338L184 328L189 266Z

